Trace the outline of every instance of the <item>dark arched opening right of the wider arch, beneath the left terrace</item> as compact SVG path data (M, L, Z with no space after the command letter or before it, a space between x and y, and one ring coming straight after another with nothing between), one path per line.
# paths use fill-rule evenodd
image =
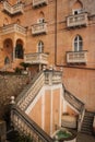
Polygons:
M21 44L17 44L15 47L15 58L23 59L23 46Z

